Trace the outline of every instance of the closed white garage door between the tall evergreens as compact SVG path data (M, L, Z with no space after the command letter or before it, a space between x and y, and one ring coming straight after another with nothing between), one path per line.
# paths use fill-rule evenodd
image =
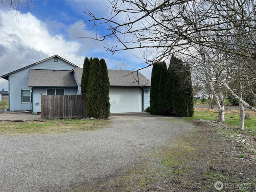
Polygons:
M140 88L111 87L109 90L110 113L142 112Z

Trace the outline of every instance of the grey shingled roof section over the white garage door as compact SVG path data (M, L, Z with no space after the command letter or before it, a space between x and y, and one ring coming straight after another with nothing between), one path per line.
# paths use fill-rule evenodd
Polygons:
M81 85L83 68L76 67L72 72ZM108 78L110 86L150 86L150 81L137 71L108 69Z

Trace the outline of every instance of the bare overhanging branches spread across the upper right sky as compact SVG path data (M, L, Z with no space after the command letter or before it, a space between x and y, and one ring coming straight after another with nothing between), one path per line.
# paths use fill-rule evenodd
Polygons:
M122 47L105 46L113 53L152 48L161 53L158 56L161 59L173 52L202 45L256 58L255 42L252 38L256 30L253 0L112 0L109 8L111 15L106 18L96 18L86 9L85 12L92 17L86 24L92 22L92 27L108 25L108 32L95 36L94 39L102 41L108 37L116 38ZM236 17L232 17L234 15ZM119 18L126 20L119 22ZM246 46L236 45L240 47L237 49L233 46L235 42L229 41L238 35L234 30L246 34ZM202 32L200 39L198 32ZM223 40L220 36L228 38Z

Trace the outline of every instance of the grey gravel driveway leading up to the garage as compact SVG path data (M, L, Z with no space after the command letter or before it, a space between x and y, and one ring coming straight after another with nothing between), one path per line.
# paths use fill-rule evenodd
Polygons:
M2 135L0 190L70 191L118 176L193 129L172 119L116 120L90 132Z

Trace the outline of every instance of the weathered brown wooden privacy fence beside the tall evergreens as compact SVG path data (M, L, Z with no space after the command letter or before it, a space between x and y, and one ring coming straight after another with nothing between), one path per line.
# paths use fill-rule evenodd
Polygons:
M86 95L42 95L41 119L83 118Z

